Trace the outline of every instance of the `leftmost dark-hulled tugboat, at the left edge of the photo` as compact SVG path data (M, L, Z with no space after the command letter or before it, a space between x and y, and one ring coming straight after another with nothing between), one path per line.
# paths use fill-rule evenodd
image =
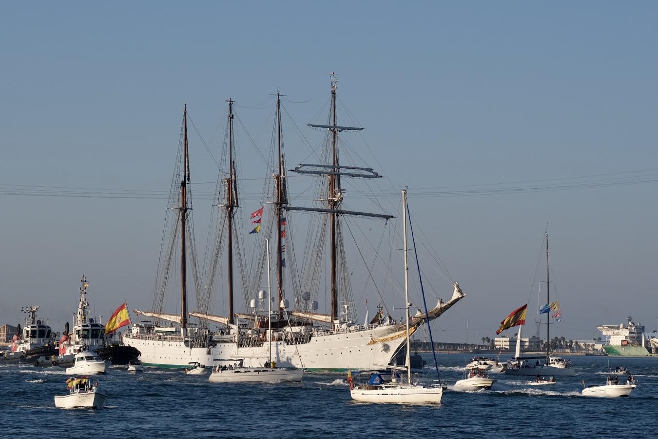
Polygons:
M39 358L57 353L53 339L53 330L47 320L37 318L38 306L23 307L26 313L25 326L20 324L14 334L8 351L0 356L0 363L29 363L39 365Z

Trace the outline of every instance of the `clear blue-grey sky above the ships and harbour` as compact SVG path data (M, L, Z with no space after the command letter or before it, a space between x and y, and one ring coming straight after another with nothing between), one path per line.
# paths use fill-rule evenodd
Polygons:
M534 319L547 224L563 314L551 334L600 336L628 315L658 324L654 2L189 3L3 5L0 324L39 305L61 330L82 274L95 315L148 307L166 199L116 195L168 190L183 105L193 181L212 194L226 99L266 154L270 93L288 95L297 126L322 123L329 72L365 127L357 150L372 150L384 190L409 188L418 229L467 294L435 340L493 337L526 302ZM290 164L309 155L291 126ZM262 177L246 139L243 175ZM397 195L386 203L394 215ZM201 248L210 204L195 202Z

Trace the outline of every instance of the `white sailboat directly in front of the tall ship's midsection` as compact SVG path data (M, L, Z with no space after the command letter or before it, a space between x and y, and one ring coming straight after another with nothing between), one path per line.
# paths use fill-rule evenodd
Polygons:
M272 337L272 294L270 285L270 240L266 242L267 247L267 337ZM303 369L288 369L276 367L272 361L272 344L265 367L244 367L244 360L240 360L238 367L217 365L213 368L208 380L210 382L278 382L278 381L301 381Z

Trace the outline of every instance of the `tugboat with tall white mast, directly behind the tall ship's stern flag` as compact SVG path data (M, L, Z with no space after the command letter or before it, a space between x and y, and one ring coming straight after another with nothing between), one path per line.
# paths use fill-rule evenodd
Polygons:
M139 351L132 346L122 346L114 340L114 336L105 334L105 326L89 317L89 302L87 301L86 276L82 276L80 287L80 303L72 332L68 332L68 323L64 335L59 339L58 355L51 357L52 364L59 367L71 367L76 353L93 351L104 361L114 365L127 365L130 360L139 357Z

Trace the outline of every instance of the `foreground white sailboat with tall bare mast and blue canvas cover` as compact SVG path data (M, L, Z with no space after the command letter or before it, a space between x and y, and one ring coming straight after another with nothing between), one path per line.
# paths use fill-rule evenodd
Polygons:
M409 341L409 265L407 264L407 190L402 190L403 203L403 238L404 238L404 264L405 264L405 341L407 342L407 376L402 381L393 378L390 382L381 382L378 384L357 384L354 385L351 375L349 375L350 389L349 393L353 400L360 402L378 402L378 403L441 403L443 388L440 384L426 386L418 381L414 381L411 376L411 346ZM403 368L393 368L403 369Z

